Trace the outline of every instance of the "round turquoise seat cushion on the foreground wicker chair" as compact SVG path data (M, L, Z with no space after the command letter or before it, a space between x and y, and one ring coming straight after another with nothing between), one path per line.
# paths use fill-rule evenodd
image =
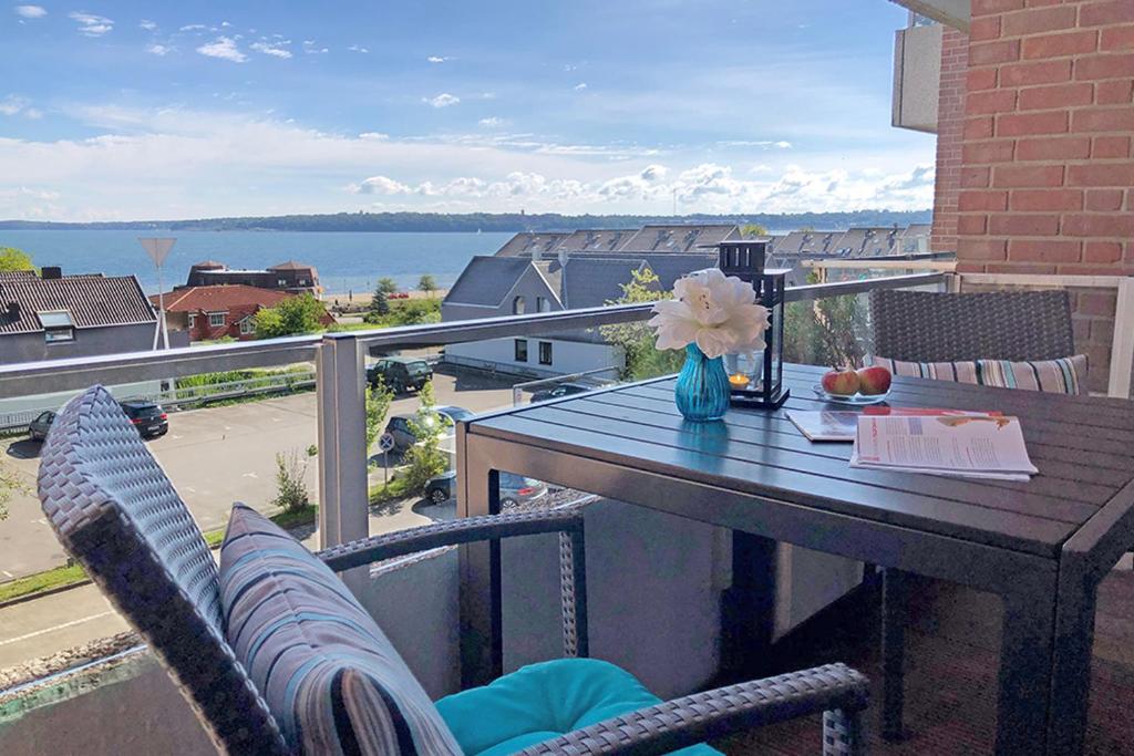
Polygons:
M559 659L446 696L437 708L467 756L503 756L660 703L633 674L609 662ZM704 745L677 753L719 754Z

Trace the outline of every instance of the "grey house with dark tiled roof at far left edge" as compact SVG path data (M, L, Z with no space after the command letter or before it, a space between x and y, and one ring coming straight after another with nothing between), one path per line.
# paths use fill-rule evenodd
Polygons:
M155 328L133 275L0 273L0 364L142 351Z

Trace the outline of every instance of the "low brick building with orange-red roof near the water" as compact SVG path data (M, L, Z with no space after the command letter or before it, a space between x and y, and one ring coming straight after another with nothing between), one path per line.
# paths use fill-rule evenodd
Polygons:
M229 337L255 338L253 316L296 295L243 283L178 287L166 295L166 322L170 331L188 334L191 341ZM158 306L158 295L150 297ZM335 318L323 313L323 324Z

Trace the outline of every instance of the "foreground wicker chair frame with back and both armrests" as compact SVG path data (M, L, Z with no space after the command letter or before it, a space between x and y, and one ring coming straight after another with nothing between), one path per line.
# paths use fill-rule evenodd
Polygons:
M39 489L60 541L145 637L218 749L242 756L295 753L226 640L218 569L201 532L101 387L74 399L57 418L44 444ZM439 546L539 533L560 534L566 652L586 655L579 510L460 519L318 555L341 571ZM823 753L863 754L866 706L865 678L827 664L628 712L522 753L662 754L823 712Z

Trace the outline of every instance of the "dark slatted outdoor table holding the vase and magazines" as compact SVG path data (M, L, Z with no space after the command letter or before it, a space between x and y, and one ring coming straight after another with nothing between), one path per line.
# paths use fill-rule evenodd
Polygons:
M1097 587L1134 546L1134 402L897 377L894 407L1019 417L1040 473L1024 483L855 469L850 444L809 442L786 416L845 409L813 391L823 372L786 365L782 408L733 408L714 423L680 416L672 377L472 418L457 430L458 513L498 511L497 476L509 472L731 528L722 635L734 648L770 637L747 632L770 627L776 542L995 593L996 753L1081 753ZM468 645L465 673L493 677L499 545L467 546L462 560L464 630L485 642Z

